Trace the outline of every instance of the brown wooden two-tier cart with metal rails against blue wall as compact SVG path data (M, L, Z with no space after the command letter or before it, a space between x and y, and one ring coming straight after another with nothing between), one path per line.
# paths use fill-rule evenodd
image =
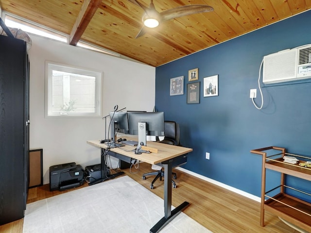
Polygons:
M270 150L270 151L269 151ZM279 151L276 154L267 156L267 152ZM290 175L307 181L311 181L311 168L290 164L283 161L284 156L297 158L299 161L311 161L310 157L286 153L285 148L266 147L251 150L251 153L262 155L262 176L261 176L261 206L260 206L260 225L264 226L264 211L267 210L284 220L311 232L311 203L300 200L296 197L286 194L285 189L294 190L304 195L310 196L310 193L300 191L296 188L287 186L285 176ZM274 170L281 173L280 185L274 189L266 191L266 169ZM271 197L269 193L280 189L280 192ZM265 200L267 198L267 200Z

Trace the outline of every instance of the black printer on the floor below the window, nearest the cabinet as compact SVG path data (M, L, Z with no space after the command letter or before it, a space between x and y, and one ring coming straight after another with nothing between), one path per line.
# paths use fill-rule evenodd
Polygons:
M50 166L50 191L63 191L79 187L84 183L84 170L81 165L68 163Z

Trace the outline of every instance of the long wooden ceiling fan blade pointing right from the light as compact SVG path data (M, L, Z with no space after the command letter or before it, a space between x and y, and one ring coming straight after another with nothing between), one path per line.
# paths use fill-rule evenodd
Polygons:
M162 18L162 21L164 22L177 17L210 12L213 10L214 8L207 5L186 5L160 12L160 16Z

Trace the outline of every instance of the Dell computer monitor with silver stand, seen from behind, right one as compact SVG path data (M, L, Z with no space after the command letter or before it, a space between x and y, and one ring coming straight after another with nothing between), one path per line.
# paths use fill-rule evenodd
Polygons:
M146 145L146 135L164 136L164 112L128 112L127 116L129 134L138 135L138 146Z

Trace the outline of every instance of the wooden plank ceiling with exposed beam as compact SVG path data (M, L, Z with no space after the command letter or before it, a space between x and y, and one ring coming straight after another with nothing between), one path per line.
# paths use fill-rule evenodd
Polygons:
M139 0L146 7L150 0ZM130 0L0 0L1 9L157 67L311 8L311 0L154 0L162 12L204 4L212 12L178 17L148 29Z

